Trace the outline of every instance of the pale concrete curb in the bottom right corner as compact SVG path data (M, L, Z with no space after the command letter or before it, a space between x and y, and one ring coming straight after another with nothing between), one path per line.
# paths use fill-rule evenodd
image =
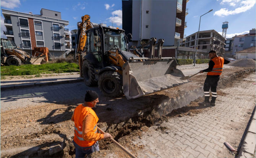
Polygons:
M255 111L252 119L249 121L250 126L243 140L243 144L239 150L238 158L254 158L254 151L256 147L256 120Z

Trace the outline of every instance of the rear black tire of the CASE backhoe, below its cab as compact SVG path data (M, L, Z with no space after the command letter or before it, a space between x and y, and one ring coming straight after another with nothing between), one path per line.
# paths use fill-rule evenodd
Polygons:
M88 60L84 60L83 63L83 78L84 83L87 86L97 85L97 81L95 81L94 67Z

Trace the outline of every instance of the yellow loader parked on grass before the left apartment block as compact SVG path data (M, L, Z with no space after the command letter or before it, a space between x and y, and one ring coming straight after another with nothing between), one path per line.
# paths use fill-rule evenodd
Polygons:
M40 65L44 60L45 55L40 53L37 57L33 57L22 49L18 48L16 44L9 40L1 38L1 64L20 66L21 63Z

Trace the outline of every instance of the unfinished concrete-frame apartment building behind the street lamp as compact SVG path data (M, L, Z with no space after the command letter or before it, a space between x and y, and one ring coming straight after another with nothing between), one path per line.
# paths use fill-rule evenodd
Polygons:
M224 54L225 38L222 37L215 30L206 30L193 33L186 37L186 40L182 42L181 47L189 47L196 49L196 41L198 40L198 49L215 50L218 54Z

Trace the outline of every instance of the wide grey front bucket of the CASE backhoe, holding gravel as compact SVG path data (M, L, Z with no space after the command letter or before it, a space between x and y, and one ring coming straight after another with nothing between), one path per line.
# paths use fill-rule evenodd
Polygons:
M123 92L127 99L134 99L161 90L172 88L187 80L176 69L176 60L126 62L123 65Z

